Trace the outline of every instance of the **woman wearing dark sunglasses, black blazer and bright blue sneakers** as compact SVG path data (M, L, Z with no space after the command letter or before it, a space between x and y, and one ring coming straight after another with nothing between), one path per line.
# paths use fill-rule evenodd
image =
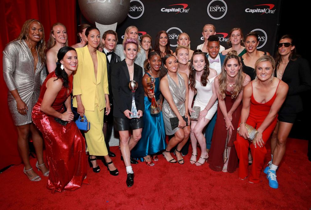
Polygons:
M289 89L286 100L278 112L278 123L271 137L271 161L264 170L272 188L278 188L277 167L285 153L286 140L297 114L303 110L300 94L311 89L309 63L297 56L293 41L290 35L284 35L277 44L274 76L287 83Z

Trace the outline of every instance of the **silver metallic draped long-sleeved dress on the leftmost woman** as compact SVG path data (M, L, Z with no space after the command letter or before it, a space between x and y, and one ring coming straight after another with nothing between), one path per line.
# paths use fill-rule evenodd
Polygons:
M8 86L8 106L15 125L31 123L31 111L40 95L40 85L46 78L44 63L38 54L37 70L34 72L34 58L24 40L13 41L3 50L3 78ZM28 107L27 115L17 111L11 90L18 91Z

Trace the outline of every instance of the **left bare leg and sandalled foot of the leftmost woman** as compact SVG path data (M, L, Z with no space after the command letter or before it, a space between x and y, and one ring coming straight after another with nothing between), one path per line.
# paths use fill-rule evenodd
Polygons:
M17 127L17 132L18 132L18 138L17 138L18 151L25 165L25 170L29 170L30 168L32 168L29 162L29 145L28 145L30 124L18 125L16 127ZM36 174L34 170L30 170L26 172L26 175L29 178L29 180L38 176L38 174ZM39 180L39 178L36 179L36 181L37 180Z

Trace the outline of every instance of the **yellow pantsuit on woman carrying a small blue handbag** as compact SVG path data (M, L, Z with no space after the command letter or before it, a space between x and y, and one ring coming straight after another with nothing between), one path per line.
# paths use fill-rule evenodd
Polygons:
M106 107L105 94L108 91L108 76L106 55L97 51L97 78L94 65L87 45L77 48L78 68L73 76L73 95L81 95L85 116L91 123L90 130L85 133L87 148L90 155L106 156L107 147L103 135L104 108ZM73 106L77 107L76 97Z

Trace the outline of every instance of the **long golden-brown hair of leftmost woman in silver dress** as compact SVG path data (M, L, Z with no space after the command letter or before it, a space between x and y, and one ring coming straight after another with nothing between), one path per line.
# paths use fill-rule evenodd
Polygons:
M28 40L28 32L29 32L29 27L30 27L30 24L34 21L37 21L38 23L40 23L39 20L36 20L36 19L29 19L29 20L26 20L25 23L23 24L23 27L22 27L22 30L21 32L19 33L18 37L16 39L14 39L13 41L16 41L16 40L25 40L25 42ZM42 39L40 40L40 42L37 43L37 49L38 49L38 54L40 56L40 61L42 64L45 63L45 50L46 50L46 45L45 45L45 40L44 40L44 28L43 28L43 25L42 23L40 23L40 25L42 26L42 30L43 30L43 33L42 33ZM12 42L13 42L12 41ZM42 43L41 43L42 41Z

